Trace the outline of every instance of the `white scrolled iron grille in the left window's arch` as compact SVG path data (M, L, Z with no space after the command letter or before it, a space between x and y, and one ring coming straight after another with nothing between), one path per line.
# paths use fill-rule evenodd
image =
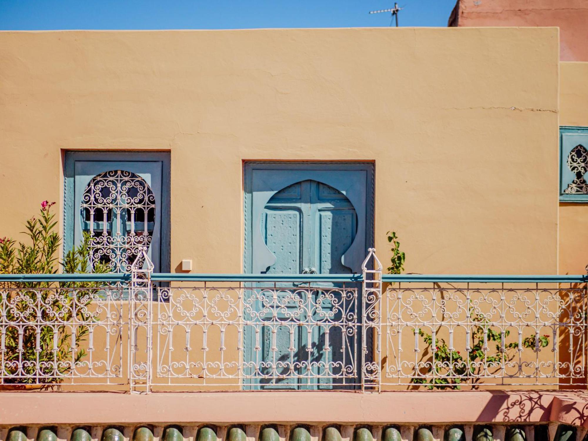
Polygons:
M149 248L155 226L155 196L145 179L124 170L100 173L82 196L82 230L91 235L90 262L112 272L131 272L142 247Z

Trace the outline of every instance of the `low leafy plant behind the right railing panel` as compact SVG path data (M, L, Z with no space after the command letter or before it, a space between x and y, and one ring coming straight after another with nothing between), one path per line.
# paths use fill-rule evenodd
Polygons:
M477 324L472 328L470 350L466 355L462 355L459 350L450 349L445 339L433 340L433 336L422 329L415 330L427 345L431 359L427 362L426 368L420 371L423 377L413 378L412 383L426 384L429 389L460 389L460 385L467 382L475 388L482 380L480 374L484 370L496 368L495 372L498 372L504 363L515 358L519 343L503 345L502 333L492 329L491 323L483 314L473 312L472 308L469 313L472 322ZM505 330L505 338L509 334L510 331ZM536 339L539 348L546 348L549 345L549 335L530 335L522 340L522 349L534 350ZM492 349L491 342L495 346ZM449 369L452 369L452 376L443 377Z

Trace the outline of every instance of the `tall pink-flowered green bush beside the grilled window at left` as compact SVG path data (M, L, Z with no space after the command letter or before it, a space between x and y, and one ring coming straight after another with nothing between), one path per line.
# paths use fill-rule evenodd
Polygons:
M58 271L61 238L57 222L44 201L38 217L26 221L29 243L0 239L0 273L53 274ZM91 268L91 236L84 233L82 243L64 256L64 273L106 273L109 266L98 263ZM6 326L2 358L4 370L12 378L5 383L59 383L62 376L81 362L81 348L93 321L89 310L99 282L5 282L0 286L0 305ZM22 326L34 323L35 326ZM65 324L70 323L70 324ZM74 324L76 323L76 324ZM75 343L72 331L75 330ZM18 376L18 377L17 377Z

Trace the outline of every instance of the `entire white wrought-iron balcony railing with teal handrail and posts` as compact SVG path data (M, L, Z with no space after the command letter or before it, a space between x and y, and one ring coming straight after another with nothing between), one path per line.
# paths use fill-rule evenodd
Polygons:
M586 385L586 276L0 275L0 389Z

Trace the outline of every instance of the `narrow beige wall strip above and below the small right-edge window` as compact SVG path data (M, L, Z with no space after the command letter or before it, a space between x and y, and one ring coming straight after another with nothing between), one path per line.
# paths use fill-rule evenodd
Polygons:
M560 64L560 125L588 126L588 62ZM583 274L588 265L588 205L561 203L559 270Z

